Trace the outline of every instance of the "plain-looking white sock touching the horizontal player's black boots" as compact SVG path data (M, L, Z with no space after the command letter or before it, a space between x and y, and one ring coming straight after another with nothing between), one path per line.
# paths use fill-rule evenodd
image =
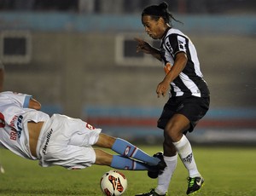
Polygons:
M164 172L158 176L158 186L155 188L155 192L158 194L165 194L168 191L172 174L177 166L177 154L173 157L164 156L164 159L167 166Z

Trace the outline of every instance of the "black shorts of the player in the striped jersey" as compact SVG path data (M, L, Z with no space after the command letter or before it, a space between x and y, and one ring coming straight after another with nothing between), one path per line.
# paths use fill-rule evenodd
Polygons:
M174 114L183 114L186 118L189 118L190 127L189 130L184 131L186 134L188 131L192 132L198 121L203 118L210 105L210 97L171 97L163 109L163 112L157 122L157 127L165 129L168 121Z

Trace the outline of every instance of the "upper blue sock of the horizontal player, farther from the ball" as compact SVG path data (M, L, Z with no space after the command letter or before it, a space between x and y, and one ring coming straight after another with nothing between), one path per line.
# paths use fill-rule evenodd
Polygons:
M156 165L160 161L160 159L149 156L147 153L132 145L130 142L120 138L117 138L116 141L114 141L112 150L125 157L138 159L152 165Z

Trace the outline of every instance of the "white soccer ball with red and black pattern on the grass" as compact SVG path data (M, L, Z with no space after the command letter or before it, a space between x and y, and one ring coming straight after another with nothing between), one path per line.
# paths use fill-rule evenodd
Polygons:
M105 195L119 196L125 193L127 179L125 175L118 170L109 170L102 176L100 185Z

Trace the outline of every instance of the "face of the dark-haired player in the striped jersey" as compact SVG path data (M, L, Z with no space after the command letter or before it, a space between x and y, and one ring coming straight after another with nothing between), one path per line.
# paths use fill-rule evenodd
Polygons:
M154 20L150 15L143 15L142 21L143 26L145 27L145 32L148 33L149 37L160 39L163 36L165 29L163 29L163 20L161 18L159 20Z

